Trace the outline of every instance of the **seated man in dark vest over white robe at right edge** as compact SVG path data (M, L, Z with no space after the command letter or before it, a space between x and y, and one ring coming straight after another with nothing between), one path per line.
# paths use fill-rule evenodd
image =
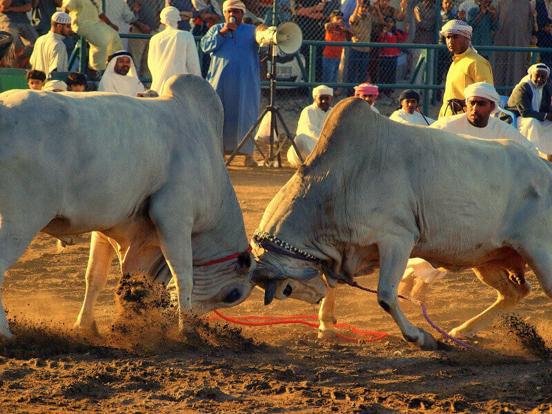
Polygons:
M517 128L552 161L552 85L547 83L550 68L537 63L515 86L506 109L520 118Z

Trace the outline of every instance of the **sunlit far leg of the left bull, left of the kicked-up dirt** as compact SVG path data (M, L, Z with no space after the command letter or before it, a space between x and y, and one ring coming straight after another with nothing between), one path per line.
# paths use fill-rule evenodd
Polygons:
M109 268L115 250L108 241L108 237L96 231L90 235L90 255L86 267L86 293L81 307L81 312L75 322L75 328L98 335L96 321L94 319L94 306L98 295L106 287Z

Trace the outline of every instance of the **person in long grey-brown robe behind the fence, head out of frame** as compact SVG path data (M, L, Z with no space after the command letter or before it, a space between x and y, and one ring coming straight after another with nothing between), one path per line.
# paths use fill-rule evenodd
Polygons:
M498 0L499 28L495 46L528 47L533 32L533 12L527 0ZM514 86L525 74L525 52L495 52L497 86Z

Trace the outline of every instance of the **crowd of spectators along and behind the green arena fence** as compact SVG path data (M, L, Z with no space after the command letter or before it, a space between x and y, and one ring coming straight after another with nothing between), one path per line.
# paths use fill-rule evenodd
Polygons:
M256 33L266 26L260 21L250 24L253 21L246 9L268 13L268 18L272 12L270 3L260 0L226 0L222 5L216 0L105 0L105 6L101 0L0 0L0 30L14 37L14 52L2 64L29 68L31 89L85 90L87 77L79 72L72 72L66 79L50 79L56 71L74 70L68 67L68 52L75 44L74 35L78 34L90 45L86 75L99 81L100 91L149 96L139 78L152 78L155 91L152 93L157 94L170 76L177 73L206 77L224 106L224 150L241 150L247 155L246 165L253 166L253 142L240 141L259 114L262 72ZM422 49L407 50L400 43L440 43L446 44L446 48L429 52L437 61L437 83L446 85L440 117L449 116L446 110L454 108L457 104L454 101L460 101L465 108L462 92L470 83L510 87L517 84L516 99L521 101L523 96L524 100L519 108L514 105L513 110L517 108L521 114L533 110L539 114L535 119L540 124L535 124L537 121L523 124L527 130L524 135L533 134L531 141L538 142L536 136L545 135L544 130L548 134L547 128L552 128L546 124L552 120L548 106L539 107L542 96L550 100L546 95L549 88L542 95L538 92L541 88L538 81L542 79L532 79L531 74L525 76L530 66L527 53L476 50L478 46L552 47L552 0L442 0L441 3L393 0L393 5L391 0L282 0L279 10L280 19L297 23L306 40L353 43L352 47L317 47L315 59L307 61L315 65L311 72L315 72L316 81L331 86L340 81L357 84L354 91L344 89L335 93L324 86L324 93L315 95L315 103L309 107L311 117L315 114L319 120L324 119L331 100L339 92L354 93L377 111L374 101L381 91L380 102L401 102L402 108L395 117L427 123L427 117L415 112L420 101L418 92L408 91L407 96L403 93L395 99L393 89L386 85L397 83L400 63L404 68L400 76L410 80L422 57ZM409 30L411 25L413 30ZM152 37L124 39L123 45L119 34L129 32ZM203 37L199 55L193 35ZM354 46L369 41L385 46ZM308 46L302 46L301 52L308 55ZM426 56L426 62L429 57ZM420 59L420 63L423 61ZM552 53L543 52L540 63L549 68ZM432 77L432 70L422 67L416 72L426 72ZM525 82L522 90L520 79ZM413 83L420 80L411 79ZM373 83L382 86L378 90ZM539 105L529 95L541 99ZM489 108L496 102L491 103ZM552 152L552 145L540 146L546 148L546 153Z

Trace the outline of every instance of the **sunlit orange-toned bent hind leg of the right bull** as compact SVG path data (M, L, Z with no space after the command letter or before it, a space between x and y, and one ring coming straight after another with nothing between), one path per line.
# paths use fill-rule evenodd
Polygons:
M521 259L521 257L520 257ZM520 262L525 266L525 262ZM475 275L481 279L484 284L497 290L497 299L494 304L485 311L471 318L468 322L454 328L450 335L457 338L473 337L486 325L492 322L493 318L500 312L511 311L520 300L526 297L531 290L529 283L525 281L524 270L518 266L517 275L510 275L508 270L497 266L481 266L474 268Z

